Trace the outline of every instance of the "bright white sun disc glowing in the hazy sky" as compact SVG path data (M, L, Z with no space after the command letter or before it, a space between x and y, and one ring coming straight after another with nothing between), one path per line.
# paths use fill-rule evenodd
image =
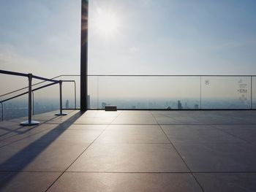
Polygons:
M94 26L97 33L110 37L118 32L119 20L113 12L98 9Z

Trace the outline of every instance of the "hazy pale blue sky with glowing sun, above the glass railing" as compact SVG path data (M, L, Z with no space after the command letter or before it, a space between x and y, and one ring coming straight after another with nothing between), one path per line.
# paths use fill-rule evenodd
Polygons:
M254 0L89 5L89 74L256 74ZM1 69L53 77L79 64L80 0L0 0Z

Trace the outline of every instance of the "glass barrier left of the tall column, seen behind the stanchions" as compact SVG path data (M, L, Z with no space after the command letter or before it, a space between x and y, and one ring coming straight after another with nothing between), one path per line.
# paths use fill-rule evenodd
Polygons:
M1 76L2 77L2 76ZM10 83L1 84L1 95L15 91L13 93L1 96L0 101L18 96L21 93L28 91L28 79L26 77L10 77ZM15 86L15 80L19 84ZM56 78L55 80L64 80L71 82L62 82L62 108L65 110L79 109L80 108L80 76L67 75ZM20 89L20 83L23 83L24 89ZM38 84L37 84L38 83ZM10 86L12 85L13 86ZM50 82L42 82L42 80L32 80L32 90L40 88L41 86L48 85ZM8 88L8 89L7 89ZM20 91L16 91L20 89ZM7 92L8 90L9 92ZM19 96L18 98L4 101L3 107L0 104L0 120L13 118L23 118L28 116L28 94ZM2 110L3 109L3 110ZM51 85L46 88L32 91L32 114L37 115L44 112L50 112L60 109L60 96L59 96L59 83ZM3 114L3 115L2 115Z

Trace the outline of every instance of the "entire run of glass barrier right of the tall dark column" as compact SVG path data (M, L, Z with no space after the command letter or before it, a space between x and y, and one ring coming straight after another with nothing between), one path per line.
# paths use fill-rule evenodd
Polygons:
M256 77L89 76L89 108L255 109Z

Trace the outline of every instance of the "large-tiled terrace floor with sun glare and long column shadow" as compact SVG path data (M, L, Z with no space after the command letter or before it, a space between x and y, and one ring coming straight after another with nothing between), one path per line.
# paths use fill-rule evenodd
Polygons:
M0 122L0 191L256 191L256 111L68 111Z

